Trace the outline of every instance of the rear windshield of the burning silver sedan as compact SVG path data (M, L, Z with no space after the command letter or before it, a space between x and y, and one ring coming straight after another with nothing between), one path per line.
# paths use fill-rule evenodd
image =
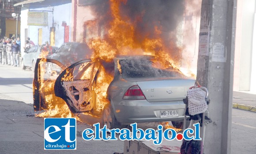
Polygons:
M158 68L151 59L120 60L123 78L165 78L183 77L180 71L170 68Z

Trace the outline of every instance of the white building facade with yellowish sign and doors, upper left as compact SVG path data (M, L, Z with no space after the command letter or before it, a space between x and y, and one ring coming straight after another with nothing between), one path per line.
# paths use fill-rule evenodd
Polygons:
M70 41L71 0L27 0L17 5L23 6L21 46L25 45L28 37L35 45L43 45L48 41L50 45L59 47Z

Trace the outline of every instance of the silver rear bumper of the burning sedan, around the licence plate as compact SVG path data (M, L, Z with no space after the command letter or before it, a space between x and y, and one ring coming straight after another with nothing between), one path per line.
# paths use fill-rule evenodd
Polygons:
M111 102L113 112L120 123L160 122L183 120L185 104L183 101L148 102L147 100L123 100ZM161 118L160 110L178 110L177 117Z

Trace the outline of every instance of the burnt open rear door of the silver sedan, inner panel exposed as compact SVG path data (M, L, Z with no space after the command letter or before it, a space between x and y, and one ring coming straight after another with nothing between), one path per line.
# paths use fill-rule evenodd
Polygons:
M72 113L87 112L93 108L92 70L94 63L90 59L82 60L66 68L56 79L55 94L66 101Z

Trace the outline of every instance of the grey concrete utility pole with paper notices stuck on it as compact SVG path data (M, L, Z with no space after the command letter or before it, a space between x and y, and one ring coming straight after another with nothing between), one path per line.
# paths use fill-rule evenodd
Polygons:
M202 0L196 81L209 91L204 154L230 154L237 0Z

